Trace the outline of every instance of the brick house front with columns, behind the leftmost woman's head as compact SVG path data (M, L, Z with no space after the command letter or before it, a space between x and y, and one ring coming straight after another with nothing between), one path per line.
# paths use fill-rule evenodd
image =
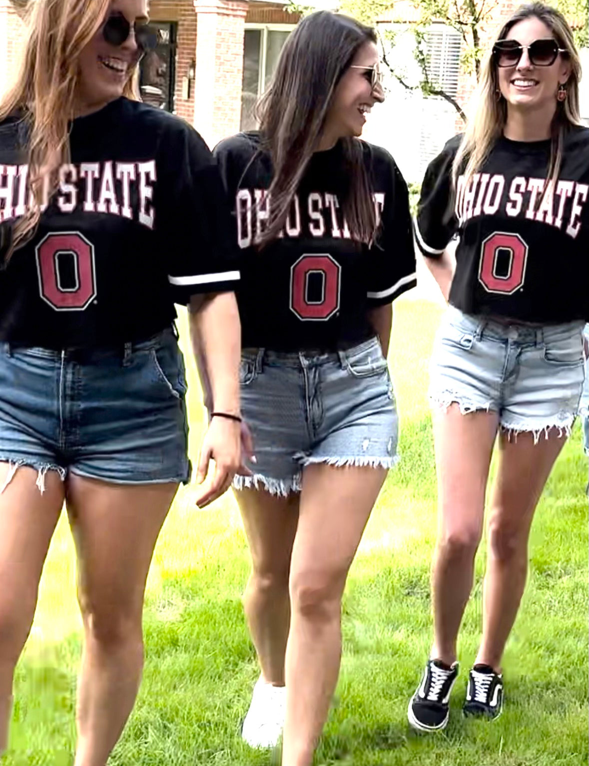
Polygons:
M0 90L14 72L27 5L27 0L0 0ZM210 145L248 126L252 102L299 19L284 6L259 0L151 0L160 44L142 60L143 99L187 119Z

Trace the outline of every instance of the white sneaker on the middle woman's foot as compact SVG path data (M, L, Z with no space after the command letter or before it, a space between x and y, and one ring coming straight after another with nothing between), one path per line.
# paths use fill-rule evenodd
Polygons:
M243 719L242 740L252 748L274 748L285 725L286 687L256 681L252 702Z

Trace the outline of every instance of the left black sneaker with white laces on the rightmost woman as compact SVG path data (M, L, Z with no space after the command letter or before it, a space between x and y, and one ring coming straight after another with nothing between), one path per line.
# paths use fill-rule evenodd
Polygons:
M418 732L438 732L446 728L450 692L458 676L458 663L446 665L428 660L421 683L409 702L407 718Z

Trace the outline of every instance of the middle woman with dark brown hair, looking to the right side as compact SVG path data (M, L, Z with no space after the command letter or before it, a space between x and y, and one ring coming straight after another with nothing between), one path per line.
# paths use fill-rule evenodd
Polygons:
M252 554L246 617L261 666L242 727L311 764L340 667L347 573L387 470L397 414L391 303L415 285L408 191L360 141L383 99L376 36L321 11L285 43L259 132L215 150L242 251L243 417L236 497Z

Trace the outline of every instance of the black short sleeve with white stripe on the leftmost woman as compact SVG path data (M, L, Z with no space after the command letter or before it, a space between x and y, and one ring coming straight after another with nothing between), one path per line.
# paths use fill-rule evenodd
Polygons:
M235 290L238 254L219 168L198 133L178 120L162 139L156 231L174 303Z

